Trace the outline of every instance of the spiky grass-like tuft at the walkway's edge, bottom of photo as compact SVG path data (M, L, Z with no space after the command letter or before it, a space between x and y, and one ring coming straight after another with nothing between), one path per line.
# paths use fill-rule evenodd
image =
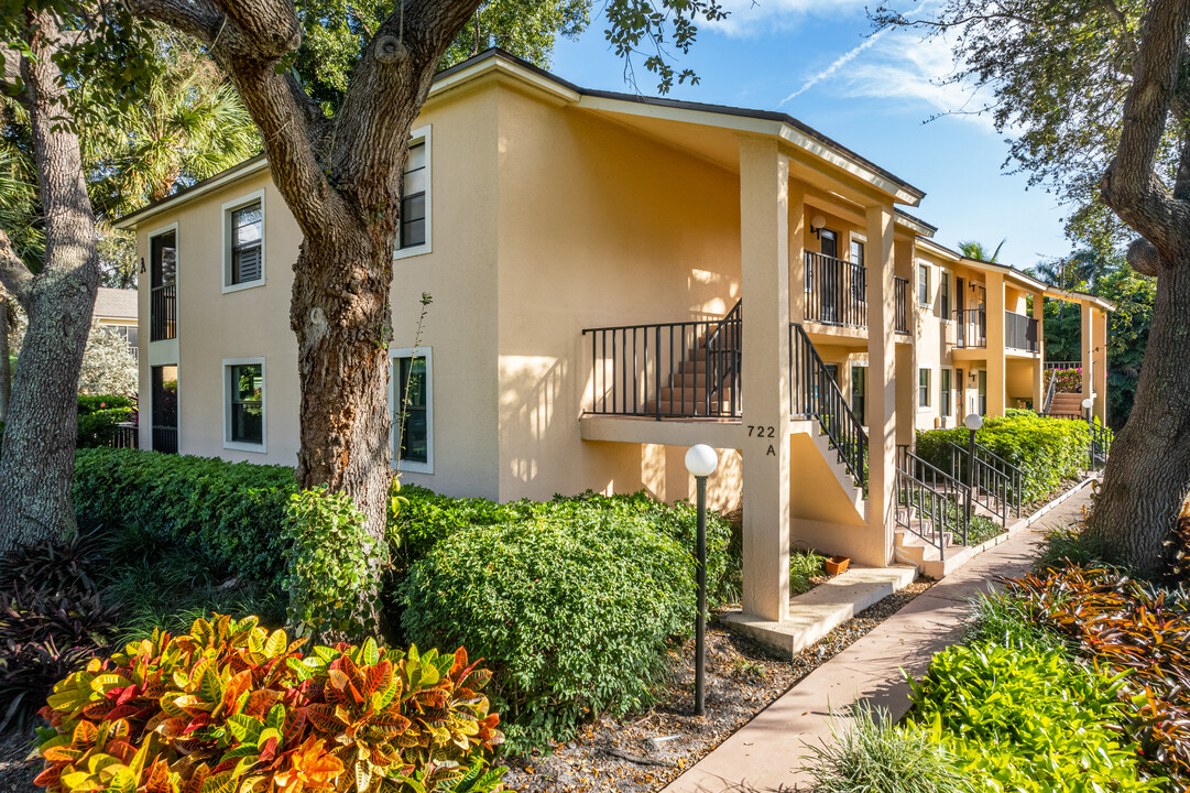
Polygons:
M818 793L972 793L951 754L926 730L896 726L888 712L859 706L831 743L810 745L804 768Z

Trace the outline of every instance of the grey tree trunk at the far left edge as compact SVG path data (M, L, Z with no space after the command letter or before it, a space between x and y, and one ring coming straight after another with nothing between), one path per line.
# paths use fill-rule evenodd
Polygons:
M0 554L76 532L70 491L79 371L100 275L79 136L54 62L56 19L48 12L33 17L37 33L33 57L24 61L24 99L45 213L45 261L31 279L13 261L7 237L0 241L0 275L29 316L0 447Z

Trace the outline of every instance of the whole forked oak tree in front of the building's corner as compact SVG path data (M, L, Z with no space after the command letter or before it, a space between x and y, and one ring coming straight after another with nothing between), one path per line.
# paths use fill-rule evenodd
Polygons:
M273 181L302 243L289 324L298 337L302 488L350 495L384 541L389 470L388 355L401 174L414 119L436 71L481 0L127 0L145 20L194 37L228 75L261 130ZM577 26L589 0L493 2ZM677 73L694 20L715 0L610 0L616 52L646 49L662 88ZM550 23L557 24L557 23ZM549 25L546 25L549 26ZM464 36L464 39L466 37ZM457 230L456 233L465 233ZM374 572L376 573L376 572ZM378 575L374 575L375 581ZM359 617L370 617L375 592Z

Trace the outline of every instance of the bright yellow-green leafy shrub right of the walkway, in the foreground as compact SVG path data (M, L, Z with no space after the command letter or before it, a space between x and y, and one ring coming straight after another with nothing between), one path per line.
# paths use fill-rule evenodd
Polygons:
M913 681L914 724L932 730L981 789L1025 793L1160 791L1115 730L1120 676L1056 650L946 648Z

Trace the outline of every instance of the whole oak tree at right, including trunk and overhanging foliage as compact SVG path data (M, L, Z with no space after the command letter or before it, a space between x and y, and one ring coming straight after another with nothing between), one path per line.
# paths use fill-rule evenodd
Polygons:
M1088 526L1113 558L1155 569L1190 491L1190 0L947 0L875 18L947 36L952 80L990 89L1013 158L1073 204L1071 229L1101 244L1130 233L1129 264L1157 277Z

